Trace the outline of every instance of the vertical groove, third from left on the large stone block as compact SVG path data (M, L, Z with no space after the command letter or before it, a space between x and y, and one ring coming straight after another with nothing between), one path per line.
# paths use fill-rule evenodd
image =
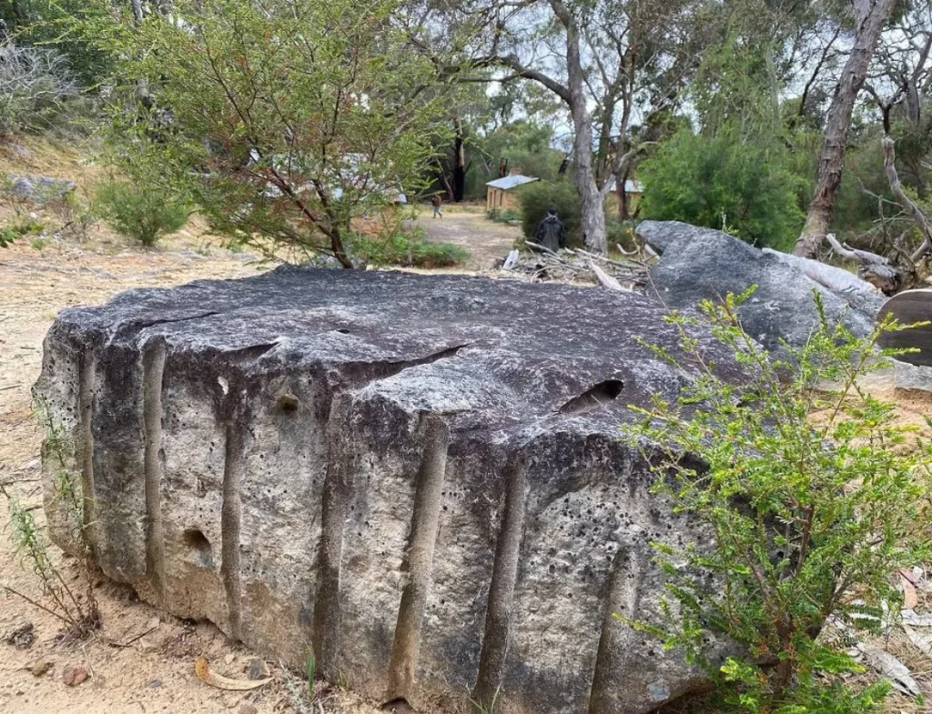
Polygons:
M242 502L240 480L243 469L243 424L234 416L226 424L224 449L223 505L220 511L220 576L226 590L226 613L230 634L240 637L240 528Z

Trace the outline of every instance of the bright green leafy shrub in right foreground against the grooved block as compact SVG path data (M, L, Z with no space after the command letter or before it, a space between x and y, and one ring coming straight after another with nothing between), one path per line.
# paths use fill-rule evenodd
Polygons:
M667 575L663 615L625 621L704 667L720 711L875 711L886 684L849 689L843 674L859 667L818 635L829 620L879 627L884 604L901 600L890 573L932 555L932 448L858 384L885 361L875 358L881 333L901 328L886 317L857 339L829 325L816 293L810 341L788 347L791 361L771 361L736 317L752 290L701 305L746 383L720 381L690 336L699 320L674 313L694 381L677 403L657 399L623 428L651 458L654 491L711 536L704 546L655 545ZM717 660L709 632L743 654Z

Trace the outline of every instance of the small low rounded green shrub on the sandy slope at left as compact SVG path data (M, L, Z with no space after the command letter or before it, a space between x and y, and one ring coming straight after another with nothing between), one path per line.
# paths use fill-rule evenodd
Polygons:
M106 182L95 195L95 212L114 230L153 246L161 236L185 225L190 210L160 188L130 182Z

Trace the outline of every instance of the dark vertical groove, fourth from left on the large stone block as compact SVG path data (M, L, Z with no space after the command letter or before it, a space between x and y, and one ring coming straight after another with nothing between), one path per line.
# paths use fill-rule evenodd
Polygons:
M321 543L317 557L317 592L314 594L312 645L317 667L324 677L339 675L339 636L342 622L340 567L343 530L352 494L352 454L348 439L349 400L336 397L327 422L327 473L323 481Z

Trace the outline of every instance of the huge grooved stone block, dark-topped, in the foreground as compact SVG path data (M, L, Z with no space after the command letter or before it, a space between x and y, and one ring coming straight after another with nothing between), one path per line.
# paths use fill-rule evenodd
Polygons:
M36 389L103 572L421 711L638 714L701 681L649 542L700 536L617 439L687 373L636 294L281 268L62 310ZM725 376L737 370L700 333ZM48 460L47 460L48 461ZM46 465L54 537L75 529Z

